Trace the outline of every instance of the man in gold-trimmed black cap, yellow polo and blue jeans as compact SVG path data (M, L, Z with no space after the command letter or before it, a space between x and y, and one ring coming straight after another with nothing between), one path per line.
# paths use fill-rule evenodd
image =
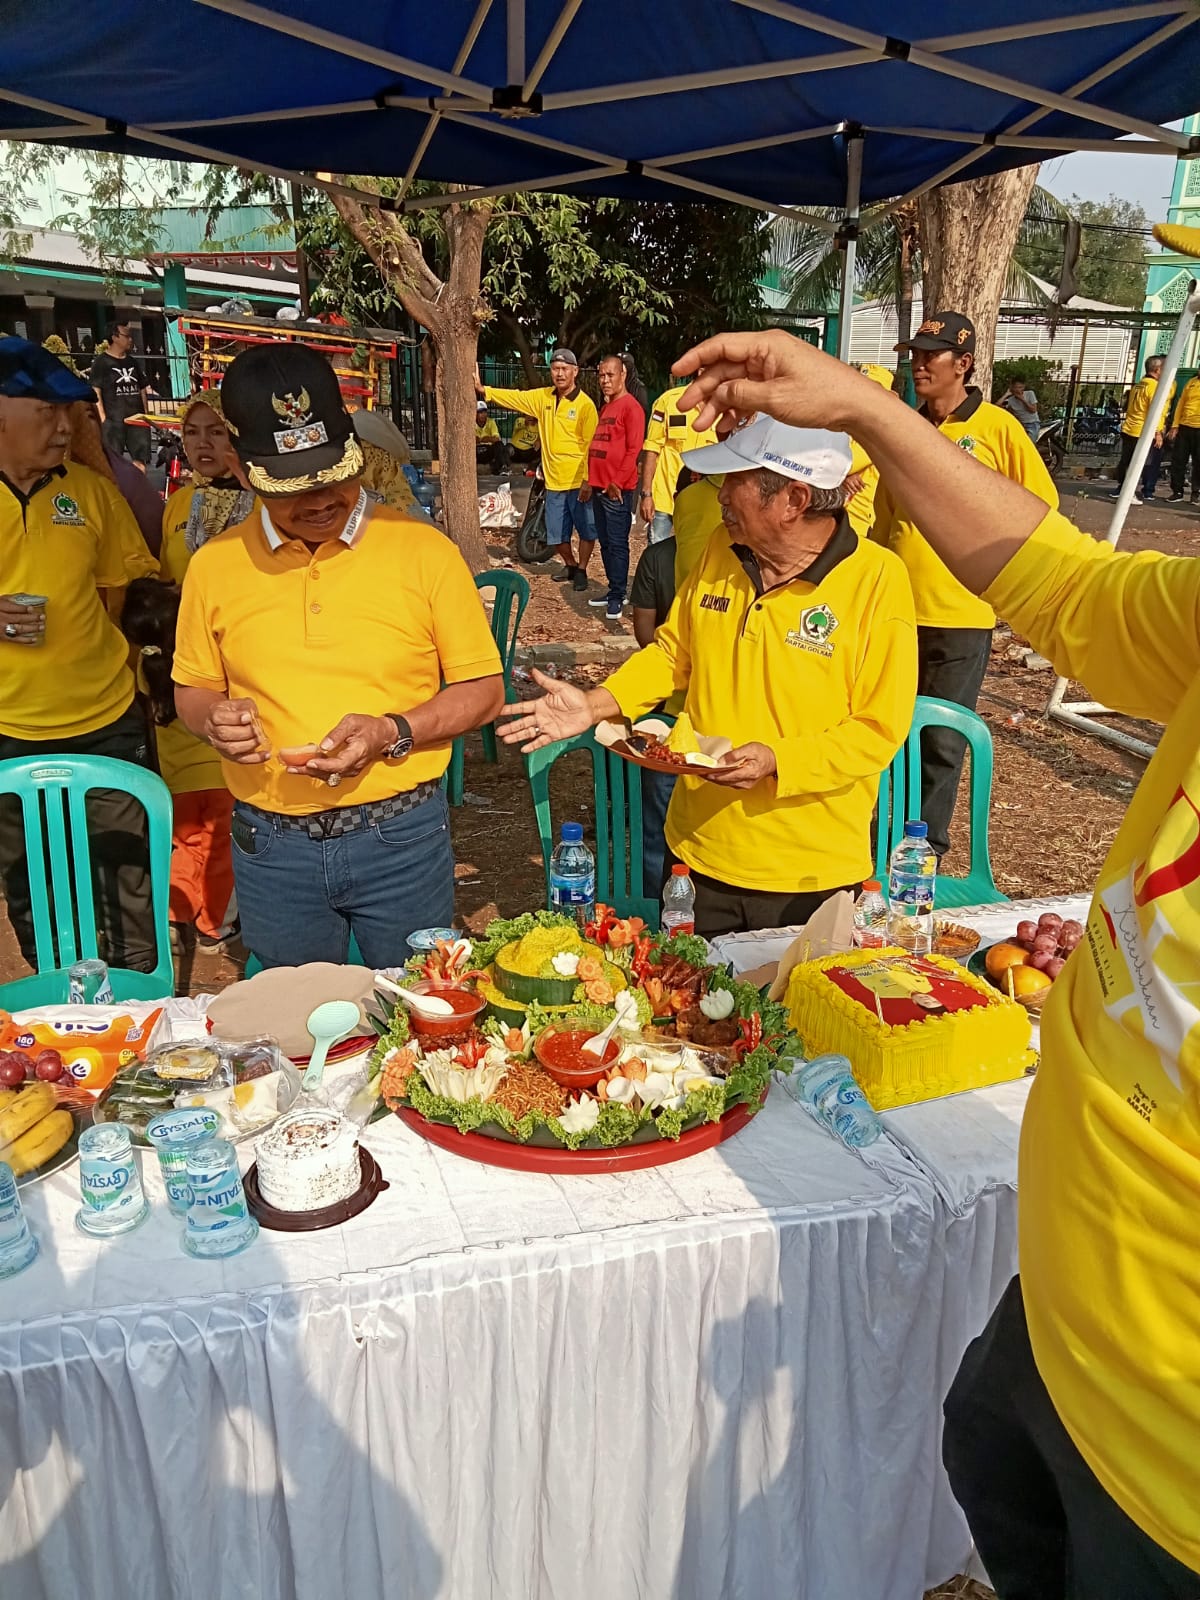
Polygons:
M440 779L504 701L496 645L454 546L360 486L323 357L246 350L221 398L262 506L192 557L174 682L235 798L242 936L264 966L344 962L350 934L392 966L453 918Z

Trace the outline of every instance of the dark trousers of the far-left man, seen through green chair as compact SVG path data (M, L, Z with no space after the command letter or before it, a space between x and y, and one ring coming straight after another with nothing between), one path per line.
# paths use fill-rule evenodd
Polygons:
M54 755L109 755L134 766L154 766L146 717L136 701L106 728L80 733L70 739L51 742L10 739L0 734L0 762L24 760L30 755L45 760L53 760ZM88 797L86 810L99 954L110 966L149 973L157 955L146 813L130 795L112 789L96 789ZM46 870L50 870L48 856ZM30 966L37 966L26 835L21 802L14 795L0 795L0 877L21 954ZM38 894L48 894L48 886L38 885Z

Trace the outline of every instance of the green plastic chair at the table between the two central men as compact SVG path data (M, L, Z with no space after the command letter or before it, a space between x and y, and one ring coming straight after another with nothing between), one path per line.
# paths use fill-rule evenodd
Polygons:
M558 739L525 757L525 773L533 790L538 837L546 872L546 904L550 904L550 853L555 845L550 821L550 768L573 750L592 758L595 795L595 898L622 917L642 917L650 928L659 925L659 904L643 893L642 883L642 770L597 744L589 730L573 739Z

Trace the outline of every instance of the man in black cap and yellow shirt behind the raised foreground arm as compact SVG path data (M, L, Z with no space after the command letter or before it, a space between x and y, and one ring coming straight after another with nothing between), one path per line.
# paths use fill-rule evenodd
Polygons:
M1058 491L1045 462L1011 413L970 382L974 323L957 310L933 312L907 344L920 413L976 461L1024 485L1051 509ZM886 486L875 498L872 538L888 544L909 570L917 608L917 693L974 710L992 648L995 611L963 589ZM947 728L922 734L922 816L939 856L950 848L965 744Z

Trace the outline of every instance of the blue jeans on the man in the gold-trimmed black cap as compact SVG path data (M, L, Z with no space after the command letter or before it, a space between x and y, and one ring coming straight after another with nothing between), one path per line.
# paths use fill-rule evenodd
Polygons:
M368 966L400 966L410 933L454 917L445 790L341 838L283 829L238 802L234 880L242 938L264 966L346 962L350 933Z

